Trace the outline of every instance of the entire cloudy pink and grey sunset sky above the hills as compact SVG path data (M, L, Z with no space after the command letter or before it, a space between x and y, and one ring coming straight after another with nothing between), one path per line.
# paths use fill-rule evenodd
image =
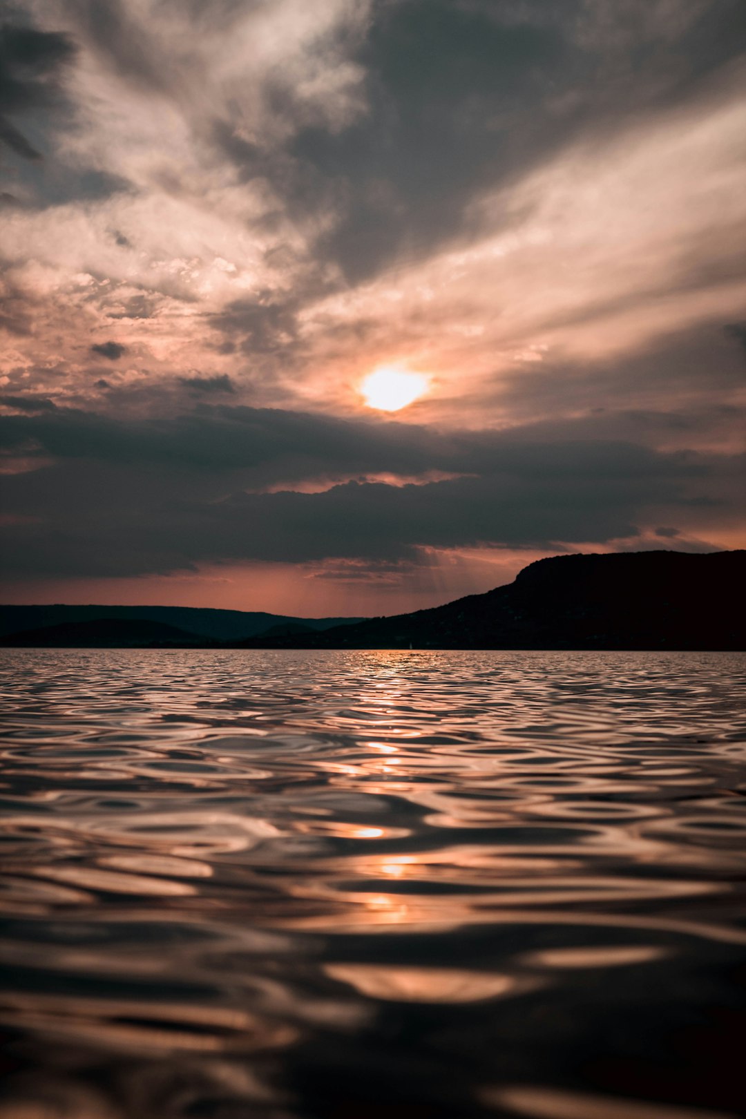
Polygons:
M743 0L2 11L6 601L746 546Z

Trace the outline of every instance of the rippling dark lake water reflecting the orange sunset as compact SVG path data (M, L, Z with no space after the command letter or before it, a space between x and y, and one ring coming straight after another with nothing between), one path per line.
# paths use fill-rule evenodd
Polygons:
M737 1115L745 667L3 651L0 1115Z

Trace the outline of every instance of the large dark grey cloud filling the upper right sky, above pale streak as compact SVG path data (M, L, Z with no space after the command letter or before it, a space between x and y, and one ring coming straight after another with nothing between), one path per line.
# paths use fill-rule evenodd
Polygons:
M333 208L317 251L356 282L468 232L475 196L580 133L693 96L743 50L745 11L740 0L381 4L353 54L368 111L351 126L303 125L285 91L300 128L284 151L247 142L229 120L216 142L290 214Z

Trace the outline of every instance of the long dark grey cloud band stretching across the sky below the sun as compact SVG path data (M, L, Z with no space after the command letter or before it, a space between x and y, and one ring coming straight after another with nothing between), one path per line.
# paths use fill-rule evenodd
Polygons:
M554 441L531 429L446 434L243 407L150 421L57 410L7 416L0 436L6 451L36 446L56 460L4 479L3 506L35 518L8 534L9 570L79 575L221 561L395 563L422 546L602 544L636 535L661 508L686 517L716 507L737 470L735 460L561 432ZM461 476L276 489L290 476L435 468ZM262 481L273 491L256 492Z

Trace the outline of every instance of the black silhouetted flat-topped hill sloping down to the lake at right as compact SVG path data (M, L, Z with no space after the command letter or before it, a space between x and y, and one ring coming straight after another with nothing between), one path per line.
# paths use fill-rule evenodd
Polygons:
M245 646L358 649L743 649L746 552L539 560L508 586L432 610Z

